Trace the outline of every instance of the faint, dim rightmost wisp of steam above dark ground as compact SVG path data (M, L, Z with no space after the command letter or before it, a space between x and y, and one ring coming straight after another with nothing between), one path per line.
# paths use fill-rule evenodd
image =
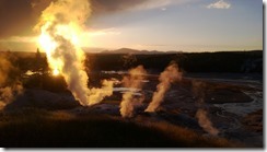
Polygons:
M205 131L212 136L217 136L219 130L213 127L213 124L210 121L208 117L208 112L204 108L205 105L205 89L206 84L200 81L193 81L193 93L197 98L196 106L198 110L196 113L196 118L198 119L198 124Z

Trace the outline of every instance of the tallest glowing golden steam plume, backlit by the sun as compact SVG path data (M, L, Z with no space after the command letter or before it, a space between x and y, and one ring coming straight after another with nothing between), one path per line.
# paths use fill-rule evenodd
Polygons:
M68 89L83 106L100 103L113 90L113 83L107 81L103 81L103 89L88 89L85 55L79 46L79 36L90 12L88 0L58 0L43 11L36 25L49 67L65 77Z

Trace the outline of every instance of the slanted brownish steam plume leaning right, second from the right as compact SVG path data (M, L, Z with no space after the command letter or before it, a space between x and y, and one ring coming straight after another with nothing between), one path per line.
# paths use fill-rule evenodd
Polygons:
M160 83L156 85L156 92L153 93L152 102L149 104L144 112L155 112L155 109L161 105L165 93L171 86L171 83L182 79L182 73L178 71L178 66L176 63L171 63L160 75Z

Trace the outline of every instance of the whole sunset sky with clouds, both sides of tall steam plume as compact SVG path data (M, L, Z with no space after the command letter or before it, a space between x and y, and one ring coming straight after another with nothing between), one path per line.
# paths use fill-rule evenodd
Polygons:
M33 31L56 0L0 0L0 50L36 51ZM263 49L262 0L91 0L86 51ZM71 12L71 11L70 11Z

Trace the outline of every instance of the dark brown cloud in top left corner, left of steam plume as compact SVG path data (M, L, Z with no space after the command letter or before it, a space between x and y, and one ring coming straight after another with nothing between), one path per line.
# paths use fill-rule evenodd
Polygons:
M0 0L0 37L28 35L49 0Z

